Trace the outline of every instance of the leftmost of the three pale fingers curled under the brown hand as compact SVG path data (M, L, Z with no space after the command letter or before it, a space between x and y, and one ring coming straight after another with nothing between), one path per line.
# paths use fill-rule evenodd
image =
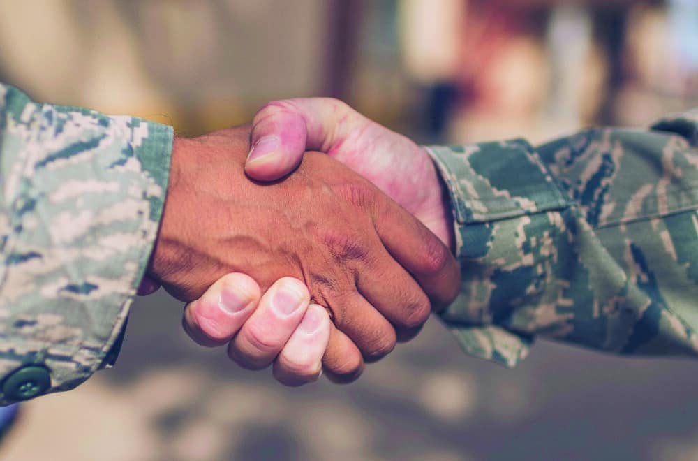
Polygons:
M252 277L238 272L224 275L184 307L182 326L196 343L220 346L235 336L259 299L260 288Z

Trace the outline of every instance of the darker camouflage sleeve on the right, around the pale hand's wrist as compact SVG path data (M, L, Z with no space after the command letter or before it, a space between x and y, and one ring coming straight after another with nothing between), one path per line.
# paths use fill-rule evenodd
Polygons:
M463 284L440 316L513 366L533 337L698 353L698 110L650 130L429 147L452 198Z

